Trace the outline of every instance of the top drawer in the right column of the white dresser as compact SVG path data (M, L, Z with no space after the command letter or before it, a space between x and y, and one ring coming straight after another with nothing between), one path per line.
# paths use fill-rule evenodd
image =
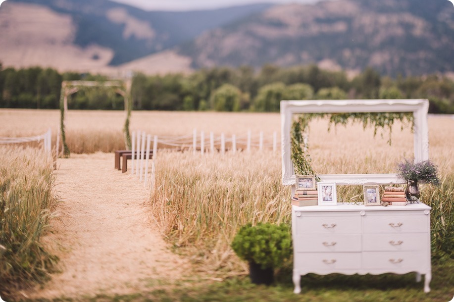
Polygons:
M428 233L427 215L363 216L364 233Z

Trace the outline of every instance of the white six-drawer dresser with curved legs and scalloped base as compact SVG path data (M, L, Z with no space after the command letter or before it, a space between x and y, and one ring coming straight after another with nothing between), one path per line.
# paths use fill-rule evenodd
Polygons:
M430 291L430 207L292 206L293 282L301 292L301 276L405 274L425 275Z

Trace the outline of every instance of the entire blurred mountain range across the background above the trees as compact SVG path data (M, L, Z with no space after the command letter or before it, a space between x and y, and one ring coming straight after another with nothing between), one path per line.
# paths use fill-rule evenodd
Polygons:
M266 0L265 0L266 1ZM326 0L145 11L109 0L8 0L0 62L122 76L316 63L396 76L454 72L447 0Z

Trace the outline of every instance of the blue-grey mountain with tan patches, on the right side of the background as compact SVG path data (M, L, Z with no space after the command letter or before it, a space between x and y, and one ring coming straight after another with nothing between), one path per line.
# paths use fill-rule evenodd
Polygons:
M447 0L337 0L274 6L202 33L178 52L196 68L318 63L382 74L454 71Z

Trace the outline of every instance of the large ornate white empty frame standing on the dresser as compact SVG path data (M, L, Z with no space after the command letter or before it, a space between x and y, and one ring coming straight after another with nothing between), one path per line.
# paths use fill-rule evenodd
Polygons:
M290 131L293 115L298 113L343 113L343 112L413 112L414 160L429 159L429 129L427 112L429 101L416 100L310 100L281 101L282 137L282 183L295 185L295 171L290 151ZM402 184L397 174L325 174L318 175L323 182L337 185Z

